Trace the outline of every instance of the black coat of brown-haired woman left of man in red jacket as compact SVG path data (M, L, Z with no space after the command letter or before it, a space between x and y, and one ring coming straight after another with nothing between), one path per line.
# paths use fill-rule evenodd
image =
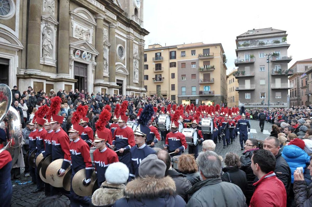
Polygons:
M244 195L247 188L247 179L246 179L246 173L238 167L223 167L222 171L224 172L221 176L221 180L225 182L231 182L237 185L241 188L241 191L243 191ZM229 173L229 176L228 174ZM230 179L231 180L230 180Z

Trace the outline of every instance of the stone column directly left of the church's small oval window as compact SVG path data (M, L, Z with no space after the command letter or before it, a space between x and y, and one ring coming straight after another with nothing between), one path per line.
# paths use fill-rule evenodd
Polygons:
M109 42L110 42L110 55L109 55L109 82L116 83L116 44L115 44L116 25L110 24L109 29Z

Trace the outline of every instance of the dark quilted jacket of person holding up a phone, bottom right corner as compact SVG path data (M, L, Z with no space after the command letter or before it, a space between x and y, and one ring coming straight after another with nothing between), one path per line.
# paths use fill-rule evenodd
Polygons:
M312 183L307 187L305 181L294 181L296 207L312 206Z

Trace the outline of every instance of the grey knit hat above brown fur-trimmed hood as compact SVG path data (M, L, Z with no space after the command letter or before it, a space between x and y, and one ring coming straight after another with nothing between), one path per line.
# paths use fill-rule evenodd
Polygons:
M141 161L139 166L139 176L155 176L163 178L166 172L166 164L157 158L157 155L150 154Z

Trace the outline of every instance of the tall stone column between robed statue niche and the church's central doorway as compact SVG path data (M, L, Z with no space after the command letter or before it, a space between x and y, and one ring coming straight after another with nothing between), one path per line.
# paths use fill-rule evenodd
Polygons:
M57 76L69 75L69 0L60 0Z

